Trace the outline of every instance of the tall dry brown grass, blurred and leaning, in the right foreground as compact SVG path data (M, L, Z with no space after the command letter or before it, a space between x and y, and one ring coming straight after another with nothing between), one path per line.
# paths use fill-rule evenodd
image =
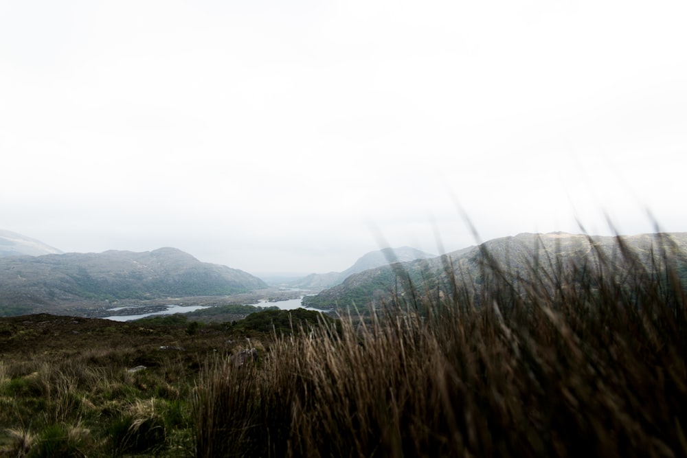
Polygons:
M398 296L276 338L254 365L208 360L196 454L671 457L687 455L687 312L670 240L649 257L482 253L479 284ZM428 288L424 289L429 291Z

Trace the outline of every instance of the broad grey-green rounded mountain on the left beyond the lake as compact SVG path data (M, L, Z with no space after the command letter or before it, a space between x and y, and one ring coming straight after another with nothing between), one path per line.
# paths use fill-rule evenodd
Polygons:
M117 299L219 296L265 288L258 277L174 248L0 257L0 314L54 312ZM23 312L21 313L23 314Z

